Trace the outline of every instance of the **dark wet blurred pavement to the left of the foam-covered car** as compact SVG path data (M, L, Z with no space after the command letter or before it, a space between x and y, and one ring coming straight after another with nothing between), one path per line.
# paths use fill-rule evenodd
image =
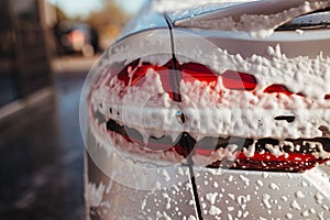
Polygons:
M0 130L0 219L84 219L79 98L96 57L53 61L55 98Z

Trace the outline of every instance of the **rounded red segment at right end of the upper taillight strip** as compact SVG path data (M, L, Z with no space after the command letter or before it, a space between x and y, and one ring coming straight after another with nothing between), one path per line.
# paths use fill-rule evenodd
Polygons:
M234 70L227 70L222 75L223 86L232 90L254 90L257 82L254 76Z

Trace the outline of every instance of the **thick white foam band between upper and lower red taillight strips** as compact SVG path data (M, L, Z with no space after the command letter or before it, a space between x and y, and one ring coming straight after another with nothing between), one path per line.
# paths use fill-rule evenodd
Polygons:
M105 116L138 129L145 139L169 135L176 140L183 131L196 140L206 135L279 140L322 136L318 128L330 128L330 102L323 99L330 91L330 57L288 59L280 54L279 46L270 51L274 55L271 59L253 56L234 62L238 56L226 56L227 64L239 63L238 69L245 66L246 73L254 73L258 82L254 94L226 89L220 77L215 90L204 84L182 81L183 102L178 103L163 89L160 75L148 69L144 84L139 87L125 87L113 77L110 85L103 84L92 91L91 102ZM306 97L264 94L272 84L306 92ZM176 120L177 110L187 116L185 124ZM295 116L293 123L274 120L287 112Z

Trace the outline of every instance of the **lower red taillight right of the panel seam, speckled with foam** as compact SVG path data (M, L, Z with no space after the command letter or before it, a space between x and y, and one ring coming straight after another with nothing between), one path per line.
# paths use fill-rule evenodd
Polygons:
M234 142L237 138L229 138L228 143ZM219 139L221 140L221 139ZM318 148L310 148L308 145L304 145L304 142L315 142L322 144L323 148L329 151L327 145L330 143L327 139L315 139L315 140L290 140L295 142L299 147L296 150L290 150L290 146L282 146L280 155L274 155L271 153L265 145L266 142L268 146L272 147L278 144L277 140L263 139L255 140L257 146L255 146L255 152L251 156L246 156L243 153L243 147L248 148L249 144L253 143L253 140L246 139L245 141L240 141L241 146L238 145L238 151L233 152L234 158L223 157L219 161L213 161L209 164L209 167L223 167L223 168L238 168L238 169L249 169L249 170L273 170L273 172L305 172L310 169L318 164L323 164L329 158L321 158L316 156L319 153ZM222 140L223 142L223 140ZM274 145L273 145L274 144ZM219 145L218 145L219 147ZM217 147L217 148L218 148ZM219 148L227 148L228 146L220 146ZM278 147L278 146L277 146ZM217 151L219 151L219 148ZM241 150L241 151L240 151ZM213 154L217 154L217 151L210 148L209 145L200 145L199 142L196 144L195 153L198 155L204 155L208 158L213 158ZM315 155L316 154L316 155Z

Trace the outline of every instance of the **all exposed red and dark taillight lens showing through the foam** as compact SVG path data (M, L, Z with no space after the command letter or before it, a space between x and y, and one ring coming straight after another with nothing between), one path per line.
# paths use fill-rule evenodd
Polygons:
M139 87L145 81L145 76L148 70L158 73L163 89L168 92L173 101L180 101L177 97L180 82L190 82L194 85L194 82L199 81L201 85L209 86L209 88L212 89L221 81L223 86L221 88L251 92L255 91L257 86L257 79L246 73L226 70L224 73L215 74L206 65L194 62L180 64L175 59L170 59L165 65L153 65L136 59L122 68L117 77L123 81L125 87ZM294 95L287 87L278 84L273 84L263 91L264 94L270 94L270 96L272 94ZM329 95L324 96L324 99L328 100L329 98ZM287 122L293 122L288 117L284 119ZM279 117L275 118L275 120L283 119ZM315 142L321 144L324 151L330 151L329 139L286 140L290 141L292 144L279 146L277 140L271 139L252 140L235 136L228 136L226 139L206 136L200 141L196 141L189 133L183 130L176 141L173 141L170 136L164 135L161 138L148 136L147 143L145 143L145 139L143 140L143 135L138 130L122 125L122 123L112 119L107 122L107 130L110 133L114 132L122 135L128 142L136 143L147 151L175 151L184 157L191 154L212 157L215 153L222 150L224 151L231 144L239 146L239 150L235 152L235 160L228 161L228 158L223 158L213 161L209 164L209 167L229 166L231 168L241 169L302 172L327 161L327 158L315 156L315 154L319 153L319 150L317 147L309 147L308 143ZM255 146L253 146L255 147L254 153L253 155L248 155L244 151L250 148L253 144L255 144ZM293 145L297 145L297 147L293 150ZM270 147L280 147L282 154L274 155Z

